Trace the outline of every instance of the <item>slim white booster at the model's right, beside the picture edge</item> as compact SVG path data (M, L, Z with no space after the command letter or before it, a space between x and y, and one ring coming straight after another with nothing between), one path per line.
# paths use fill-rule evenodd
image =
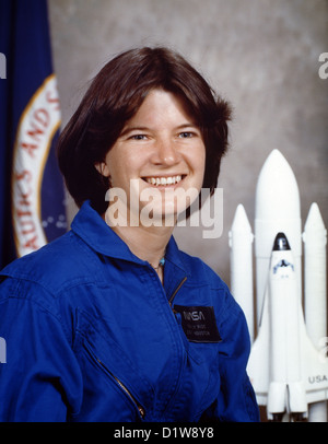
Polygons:
M327 340L327 231L317 203L311 206L303 233L304 308L308 337L317 349ZM324 343L320 343L324 341ZM327 421L327 402L309 407L312 422Z

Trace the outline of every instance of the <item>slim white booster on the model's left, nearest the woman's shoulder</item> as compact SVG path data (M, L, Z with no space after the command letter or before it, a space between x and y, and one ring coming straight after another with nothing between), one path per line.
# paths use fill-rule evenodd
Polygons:
M239 203L229 232L231 291L244 311L251 342L254 340L253 239L246 211Z

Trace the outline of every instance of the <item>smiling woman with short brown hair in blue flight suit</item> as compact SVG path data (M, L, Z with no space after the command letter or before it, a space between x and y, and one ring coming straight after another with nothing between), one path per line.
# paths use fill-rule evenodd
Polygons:
M71 230L0 276L0 421L258 421L244 314L172 235L215 189L229 118L165 48L95 77L58 145Z

